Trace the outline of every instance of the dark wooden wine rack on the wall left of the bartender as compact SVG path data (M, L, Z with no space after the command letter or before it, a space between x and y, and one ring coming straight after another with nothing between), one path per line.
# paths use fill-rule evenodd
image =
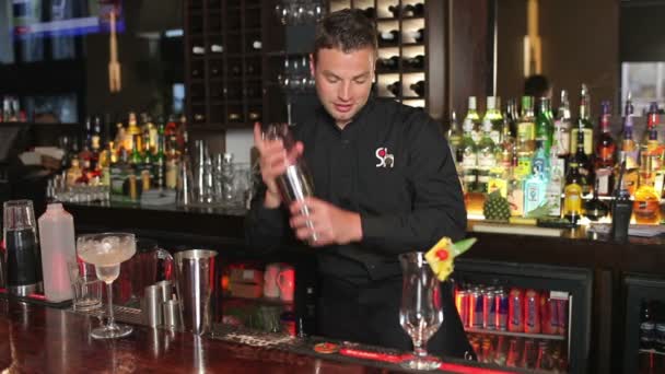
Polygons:
M264 14L260 0L186 1L186 110L192 128L250 127L262 118Z

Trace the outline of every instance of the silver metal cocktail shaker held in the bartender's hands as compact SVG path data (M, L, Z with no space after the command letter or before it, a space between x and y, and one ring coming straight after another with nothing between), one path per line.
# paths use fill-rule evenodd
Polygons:
M305 160L295 153L295 140L289 130L288 124L270 124L265 133L268 140L281 140L287 150L287 160L289 165L284 174L277 178L282 201L285 204L291 204L293 201L303 200L308 196L314 195L314 184L312 175L307 168ZM307 207L302 208L302 214L310 215ZM312 222L307 221L307 226L313 229ZM312 235L312 241L316 241L316 234Z

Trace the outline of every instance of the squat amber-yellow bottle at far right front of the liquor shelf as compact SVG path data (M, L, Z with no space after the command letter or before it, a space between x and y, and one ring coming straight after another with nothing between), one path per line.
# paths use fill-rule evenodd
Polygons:
M648 154L641 156L640 187L635 190L632 211L637 223L661 223L661 195L656 194L653 184L652 159Z

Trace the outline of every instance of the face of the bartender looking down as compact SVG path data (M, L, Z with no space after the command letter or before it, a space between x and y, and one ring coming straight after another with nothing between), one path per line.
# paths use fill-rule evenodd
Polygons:
M343 128L368 103L374 79L374 50L370 47L345 54L337 48L318 50L310 62L316 93L324 107Z

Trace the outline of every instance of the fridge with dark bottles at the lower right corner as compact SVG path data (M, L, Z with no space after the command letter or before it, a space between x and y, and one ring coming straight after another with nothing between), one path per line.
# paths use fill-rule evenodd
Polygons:
M665 277L623 278L623 373L665 373Z

